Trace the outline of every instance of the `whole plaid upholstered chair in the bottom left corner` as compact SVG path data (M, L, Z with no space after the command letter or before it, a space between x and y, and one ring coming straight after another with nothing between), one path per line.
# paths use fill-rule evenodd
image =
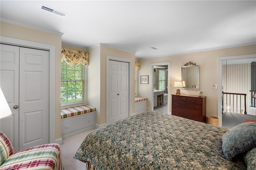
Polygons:
M12 144L0 131L0 170L63 170L59 144L43 144L13 152Z

